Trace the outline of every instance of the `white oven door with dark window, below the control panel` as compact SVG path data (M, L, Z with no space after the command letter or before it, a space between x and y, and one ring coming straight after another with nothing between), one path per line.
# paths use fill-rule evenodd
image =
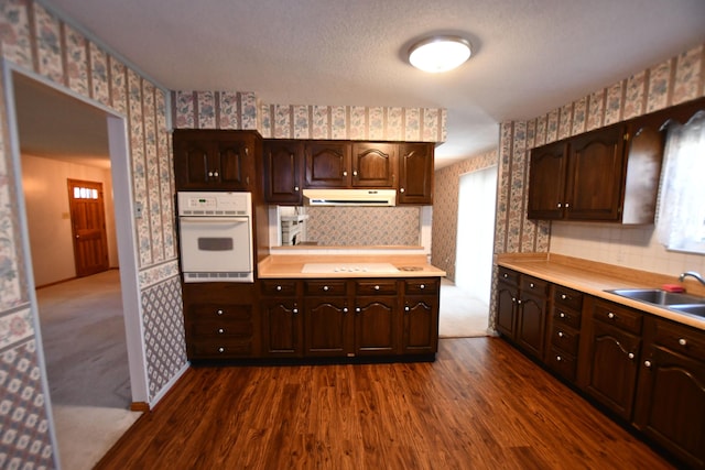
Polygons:
M184 282L253 282L249 217L180 217Z

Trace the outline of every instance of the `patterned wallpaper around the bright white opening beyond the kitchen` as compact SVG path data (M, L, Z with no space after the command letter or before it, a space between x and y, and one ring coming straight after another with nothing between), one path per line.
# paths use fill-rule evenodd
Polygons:
M497 150L443 167L435 173L431 262L455 280L460 175L497 165Z

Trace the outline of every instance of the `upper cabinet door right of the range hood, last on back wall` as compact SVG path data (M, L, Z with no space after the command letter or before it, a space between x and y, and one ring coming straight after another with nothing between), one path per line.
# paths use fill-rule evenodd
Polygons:
M399 145L399 204L433 204L433 144Z

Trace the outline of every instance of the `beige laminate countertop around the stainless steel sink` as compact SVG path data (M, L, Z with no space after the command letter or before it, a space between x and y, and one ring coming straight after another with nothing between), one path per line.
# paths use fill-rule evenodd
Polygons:
M547 258L550 256L550 258ZM655 305L632 300L605 292L614 288L660 288L663 284L679 284L677 276L629 270L604 263L595 263L545 253L499 254L496 263L524 274L543 278L554 284L571 287L595 297L637 308L655 316L705 330L705 318L681 314ZM688 293L704 295L702 287L686 281Z

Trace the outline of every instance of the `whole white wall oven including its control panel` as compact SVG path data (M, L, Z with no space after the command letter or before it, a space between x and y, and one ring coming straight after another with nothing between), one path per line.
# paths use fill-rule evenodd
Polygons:
M254 282L250 193L180 192L185 283Z

